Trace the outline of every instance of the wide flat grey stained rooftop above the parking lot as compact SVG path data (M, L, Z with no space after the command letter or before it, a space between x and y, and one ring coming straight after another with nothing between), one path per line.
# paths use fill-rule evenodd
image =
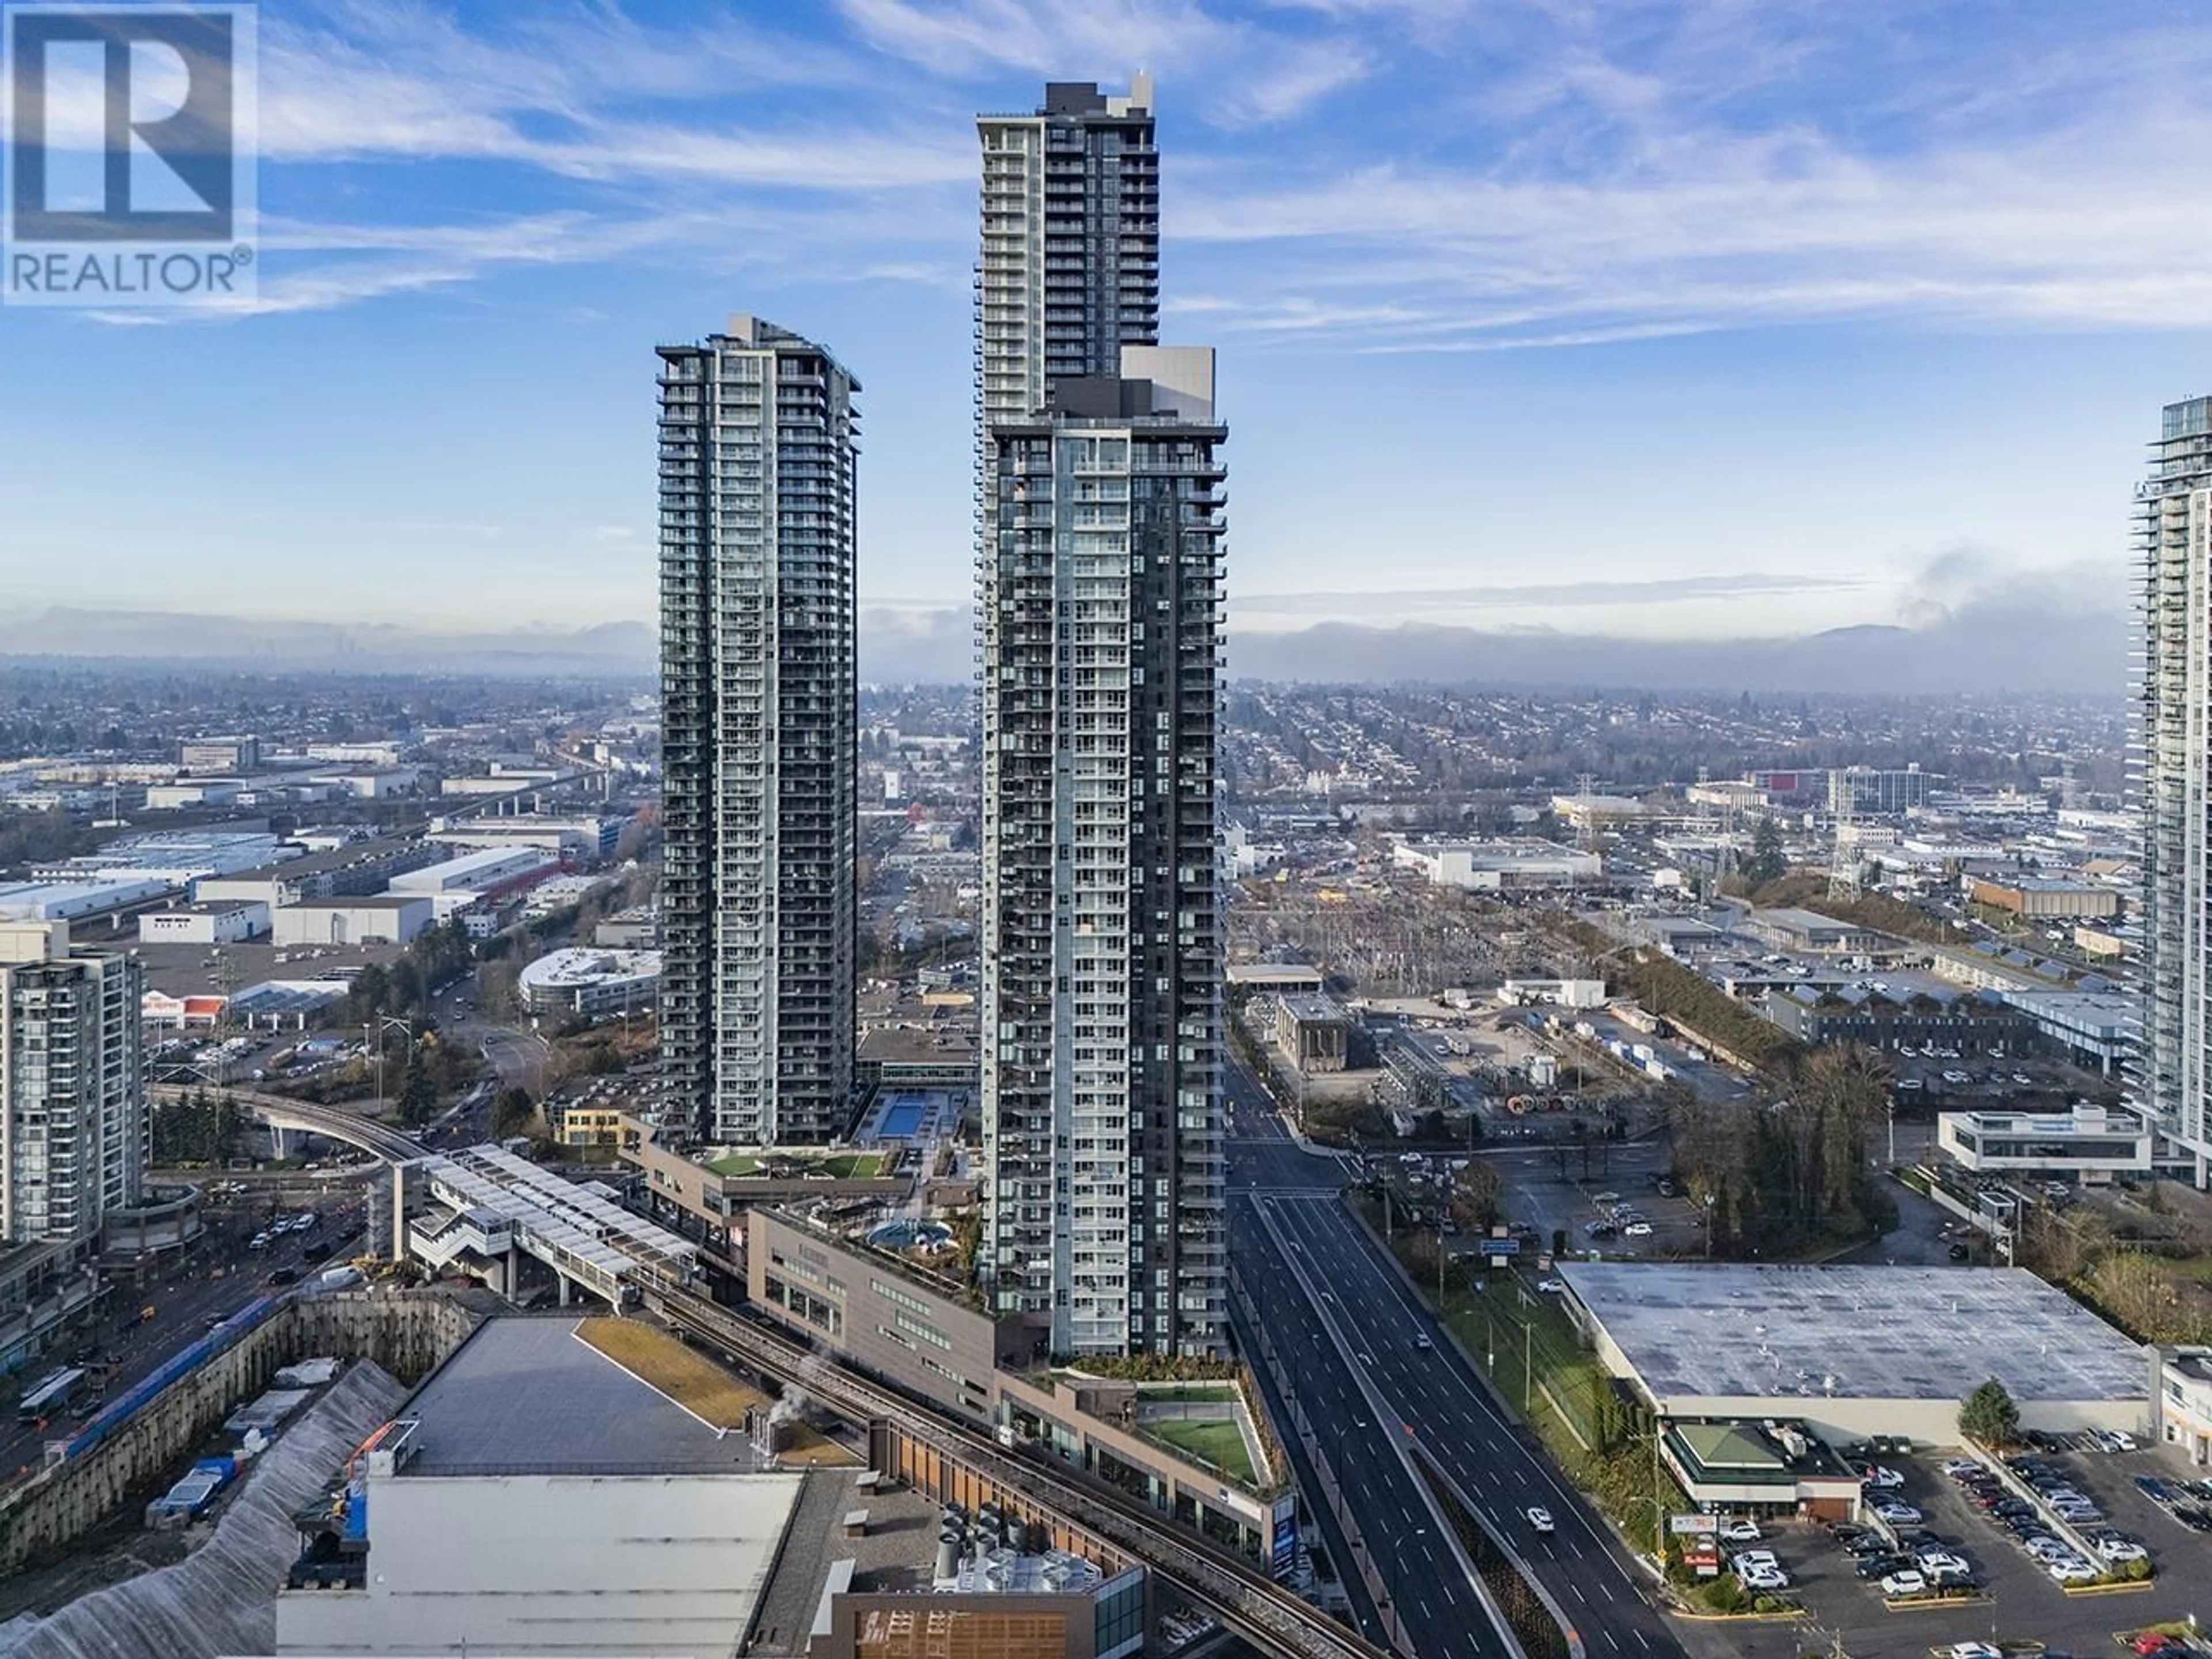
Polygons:
M1564 1263L1657 1400L2141 1400L2143 1349L2026 1267Z

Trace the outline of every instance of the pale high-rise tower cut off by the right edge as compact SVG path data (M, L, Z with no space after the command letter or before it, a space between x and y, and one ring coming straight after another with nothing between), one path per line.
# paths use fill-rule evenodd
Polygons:
M2143 825L2135 1086L2159 1130L2212 1159L2212 398L2166 405L2135 491L2143 668L2132 770Z

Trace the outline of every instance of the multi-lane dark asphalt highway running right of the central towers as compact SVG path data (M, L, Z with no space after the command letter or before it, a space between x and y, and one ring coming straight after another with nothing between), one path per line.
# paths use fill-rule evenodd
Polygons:
M1489 1615L1473 1606L1471 1588L1462 1595L1464 1573L1440 1557L1438 1522L1402 1471L1391 1436L1427 1451L1467 1493L1528 1564L1590 1659L1681 1659L1681 1644L1648 1599L1648 1577L1469 1371L1343 1206L1340 1186L1338 1161L1292 1141L1267 1095L1232 1066L1230 1259L1252 1303L1241 1336L1252 1347L1265 1334L1283 1356L1287 1387L1323 1453L1343 1440L1345 1498L1369 1553L1402 1566L1396 1604L1409 1639L1400 1646L1422 1655L1500 1652ZM1272 1367L1256 1369L1265 1376ZM1325 1491L1307 1471L1316 1509ZM1548 1511L1555 1531L1535 1531L1528 1509ZM1391 1595L1387 1582L1383 1595Z

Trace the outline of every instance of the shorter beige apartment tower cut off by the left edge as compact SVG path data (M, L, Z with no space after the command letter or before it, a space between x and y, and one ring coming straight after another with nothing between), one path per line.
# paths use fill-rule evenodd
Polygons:
M0 1243L93 1248L139 1201L148 1119L135 956L0 922Z

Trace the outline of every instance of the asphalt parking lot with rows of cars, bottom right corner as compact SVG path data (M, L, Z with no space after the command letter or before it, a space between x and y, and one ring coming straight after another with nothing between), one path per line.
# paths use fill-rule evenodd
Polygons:
M2141 1540L2161 1579L2148 1590L2066 1595L2020 1540L1975 1506L1969 1491L1942 1473L1942 1458L1880 1458L1902 1482L1874 1495L1900 1498L1920 1511L1907 1537L1962 1557L1980 1595L1971 1601L1891 1606L1878 1577L1860 1579L1865 1557L1845 1551L1838 1535L1803 1520L1761 1522L1763 1540L1747 1548L1772 1551L1809 1624L1838 1632L1854 1655L1924 1655L1958 1641L2039 1641L2046 1659L2117 1652L2112 1637L2143 1624L2181 1619L2199 1606L2212 1542L2185 1528L2137 1491L2135 1475L2161 1471L2154 1453L2048 1451L2037 1453L2066 1484L2097 1502L2106 1526ZM2163 1471L2161 1471L2163 1473ZM1871 1540L1882 1542L1882 1540ZM1860 1546L1869 1548L1869 1546ZM1770 1657L1774 1628L1745 1624L1683 1624L1697 1655ZM1825 1644L1823 1644L1825 1646Z

